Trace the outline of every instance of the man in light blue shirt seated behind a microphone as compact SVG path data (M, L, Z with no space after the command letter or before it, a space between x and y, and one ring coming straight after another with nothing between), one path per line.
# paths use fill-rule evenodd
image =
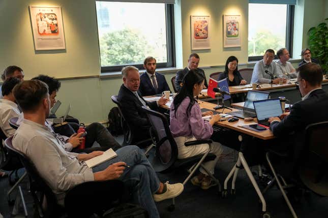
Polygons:
M265 51L263 59L254 66L251 83L279 84L281 80L283 83L286 83L286 79L279 78L282 76L282 73L277 69L276 63L272 62L274 58L274 50L268 49Z

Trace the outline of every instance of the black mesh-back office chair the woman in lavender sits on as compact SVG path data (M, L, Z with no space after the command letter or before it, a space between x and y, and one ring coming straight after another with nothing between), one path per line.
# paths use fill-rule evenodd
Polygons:
M204 166L203 162L214 160L216 156L210 154L212 140L194 140L185 142L185 146L195 146L197 144L208 144L208 150L205 154L196 155L194 157L177 159L178 149L176 142L171 134L170 127L165 115L150 110L145 106L142 106L144 112L147 114L148 119L150 120L152 127L154 129L155 135L152 135L154 138L154 144L156 146L156 154L150 157L150 162L154 167L156 172L162 172L166 170L171 170L181 166L192 165L189 169L190 174L184 180L183 185L185 185L195 171L201 166L208 175L210 175L218 184L219 192L221 192L221 185L217 178L215 178L210 171L208 171ZM170 205L169 210L174 210L174 198L172 205Z

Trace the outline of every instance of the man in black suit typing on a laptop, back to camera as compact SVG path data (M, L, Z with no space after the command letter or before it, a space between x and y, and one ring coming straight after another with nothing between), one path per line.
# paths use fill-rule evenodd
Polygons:
M304 151L305 128L312 123L328 121L328 94L321 88L321 67L315 63L308 63L297 68L297 72L296 83L299 85L303 100L296 102L290 113L283 114L280 118L269 119L271 131L282 142L275 143L275 146L280 144L280 149L287 150L290 155L291 167L283 167L288 173L295 172L295 164L300 161Z

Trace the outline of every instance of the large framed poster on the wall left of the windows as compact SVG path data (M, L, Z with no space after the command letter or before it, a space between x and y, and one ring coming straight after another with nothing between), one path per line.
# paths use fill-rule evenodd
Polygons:
M62 8L29 6L35 50L66 49Z

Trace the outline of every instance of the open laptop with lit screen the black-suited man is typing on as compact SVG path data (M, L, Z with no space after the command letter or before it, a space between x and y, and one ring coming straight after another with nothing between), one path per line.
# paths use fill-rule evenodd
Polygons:
M254 101L253 104L258 124L270 126L267 120L269 120L270 117L278 117L282 114L279 98Z

